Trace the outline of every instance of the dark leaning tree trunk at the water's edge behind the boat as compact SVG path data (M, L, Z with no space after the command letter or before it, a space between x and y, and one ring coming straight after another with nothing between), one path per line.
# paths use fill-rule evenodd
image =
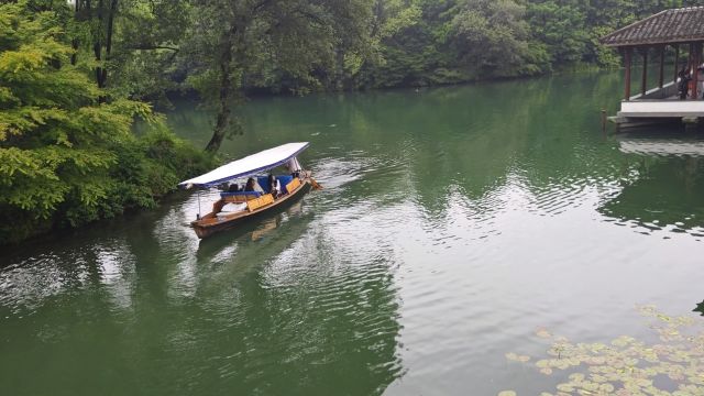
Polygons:
M222 50L220 52L220 95L218 103L218 118L216 121L216 128L212 131L212 138L206 146L206 151L215 153L220 150L220 145L224 140L228 132L228 125L230 124L230 114L232 112L232 36L235 29L230 29L224 34L222 41Z

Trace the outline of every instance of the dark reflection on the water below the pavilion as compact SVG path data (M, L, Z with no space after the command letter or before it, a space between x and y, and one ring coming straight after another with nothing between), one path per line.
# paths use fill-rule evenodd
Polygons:
M704 237L704 139L692 134L619 135L629 173L620 193L598 211L644 233L666 230Z

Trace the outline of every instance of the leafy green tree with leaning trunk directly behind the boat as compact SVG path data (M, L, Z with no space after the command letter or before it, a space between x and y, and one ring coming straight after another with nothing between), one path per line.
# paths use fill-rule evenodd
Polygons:
M244 86L293 81L290 90L330 84L352 55L370 48L371 0L205 0L194 2L195 23L184 55L197 59L190 82L216 105L206 150L239 130L232 118ZM354 66L351 62L349 66ZM296 81L302 81L296 87Z

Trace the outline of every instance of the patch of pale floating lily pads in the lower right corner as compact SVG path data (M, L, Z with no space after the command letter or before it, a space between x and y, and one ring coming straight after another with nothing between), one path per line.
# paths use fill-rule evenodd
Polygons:
M622 336L610 343L573 343L546 329L536 336L550 340L544 359L507 353L509 361L531 364L540 373L573 371L556 393L541 396L617 395L692 396L704 395L704 330L692 317L669 317L653 306L639 307L651 319L650 328L660 342L648 344ZM535 363L528 363L535 361ZM504 391L499 395L515 395Z

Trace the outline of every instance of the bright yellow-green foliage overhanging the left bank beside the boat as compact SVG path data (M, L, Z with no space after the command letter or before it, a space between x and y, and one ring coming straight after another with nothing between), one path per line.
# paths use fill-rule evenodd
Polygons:
M99 100L105 92L70 63L59 15L0 4L0 244L153 207L210 165L148 105ZM139 139L136 118L152 125Z

